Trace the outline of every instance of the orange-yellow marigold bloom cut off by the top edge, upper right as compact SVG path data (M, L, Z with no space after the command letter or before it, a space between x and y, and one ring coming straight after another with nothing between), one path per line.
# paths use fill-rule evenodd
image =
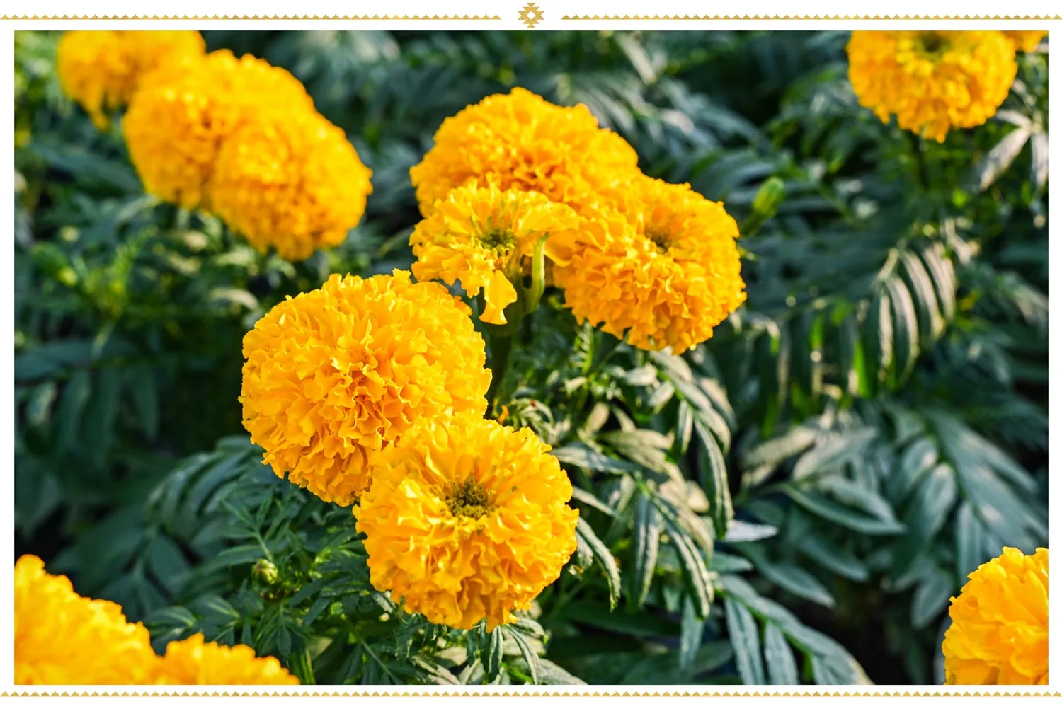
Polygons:
M1016 74L1014 46L1000 32L853 32L849 41L859 104L941 142L995 115Z

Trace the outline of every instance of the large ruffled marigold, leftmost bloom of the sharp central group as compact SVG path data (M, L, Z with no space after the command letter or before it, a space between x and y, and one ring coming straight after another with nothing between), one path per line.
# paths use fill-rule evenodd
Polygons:
M366 452L415 420L486 411L491 371L469 309L409 272L340 277L278 304L243 338L243 426L278 477L349 505Z

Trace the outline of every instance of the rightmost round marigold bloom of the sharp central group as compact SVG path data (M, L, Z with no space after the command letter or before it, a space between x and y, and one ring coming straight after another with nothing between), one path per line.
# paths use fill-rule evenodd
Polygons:
M737 223L688 184L641 177L606 198L547 242L565 305L644 349L679 355L710 338L746 298Z

